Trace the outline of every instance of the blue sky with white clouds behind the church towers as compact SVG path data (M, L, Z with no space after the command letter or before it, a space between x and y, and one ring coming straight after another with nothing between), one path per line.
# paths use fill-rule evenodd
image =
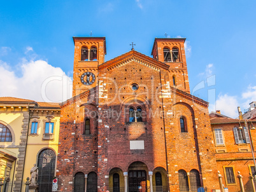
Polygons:
M1 1L0 96L43 100L44 79L63 72L70 83L73 36L105 36L110 60L131 50L131 42L150 56L154 38L167 32L187 38L191 92L210 101L210 111L236 117L237 106L256 101L255 6L224 0ZM58 94L61 85L46 86L49 100L68 97Z

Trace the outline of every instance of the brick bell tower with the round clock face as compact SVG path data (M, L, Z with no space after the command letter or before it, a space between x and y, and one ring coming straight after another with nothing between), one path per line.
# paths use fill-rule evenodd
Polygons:
M73 37L75 44L73 95L97 86L98 65L106 55L106 38Z

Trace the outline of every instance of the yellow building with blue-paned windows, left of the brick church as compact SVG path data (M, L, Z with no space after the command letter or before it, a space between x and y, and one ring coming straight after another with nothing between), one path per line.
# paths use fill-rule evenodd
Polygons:
M59 143L58 103L0 97L0 178L25 181L34 164L39 187L55 176Z

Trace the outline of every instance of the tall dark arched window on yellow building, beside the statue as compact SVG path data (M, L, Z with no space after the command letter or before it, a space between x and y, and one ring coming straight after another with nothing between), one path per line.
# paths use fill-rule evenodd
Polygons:
M52 149L43 149L38 154L39 192L52 191L52 180L55 172L55 153Z

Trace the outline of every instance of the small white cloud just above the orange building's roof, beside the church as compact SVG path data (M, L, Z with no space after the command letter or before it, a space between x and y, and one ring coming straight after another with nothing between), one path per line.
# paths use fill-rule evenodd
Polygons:
M220 110L220 113L229 116L231 118L238 117L238 99L236 96L231 95L218 95L218 99L216 100L216 110ZM214 106L209 107L209 109L213 109Z

